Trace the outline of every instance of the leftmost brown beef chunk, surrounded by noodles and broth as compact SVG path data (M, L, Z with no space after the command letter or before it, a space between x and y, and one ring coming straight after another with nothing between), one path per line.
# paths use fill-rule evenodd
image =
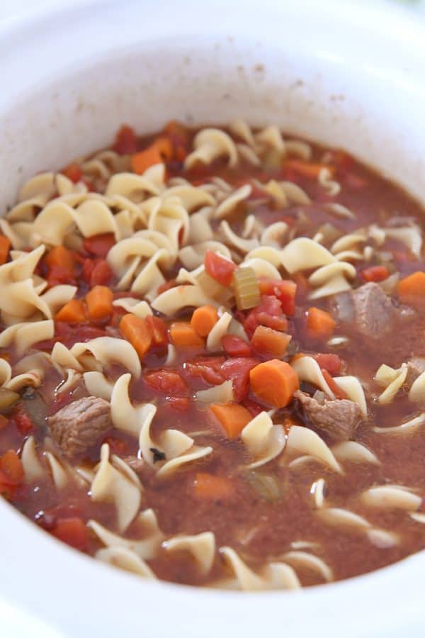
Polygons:
M111 427L108 401L85 396L59 410L48 419L53 439L65 457L84 454Z

